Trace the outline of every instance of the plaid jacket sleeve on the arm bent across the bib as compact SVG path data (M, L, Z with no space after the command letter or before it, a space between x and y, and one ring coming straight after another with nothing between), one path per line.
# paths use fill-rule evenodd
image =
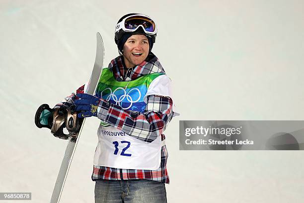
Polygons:
M172 99L169 97L150 95L146 109L141 113L124 110L119 105L101 101L97 117L129 136L152 142L162 134L170 122L173 115L172 105Z

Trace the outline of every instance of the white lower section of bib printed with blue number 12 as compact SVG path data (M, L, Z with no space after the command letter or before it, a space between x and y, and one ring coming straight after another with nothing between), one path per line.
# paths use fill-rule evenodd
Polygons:
M115 127L99 125L95 166L156 170L160 167L161 136L147 143Z

